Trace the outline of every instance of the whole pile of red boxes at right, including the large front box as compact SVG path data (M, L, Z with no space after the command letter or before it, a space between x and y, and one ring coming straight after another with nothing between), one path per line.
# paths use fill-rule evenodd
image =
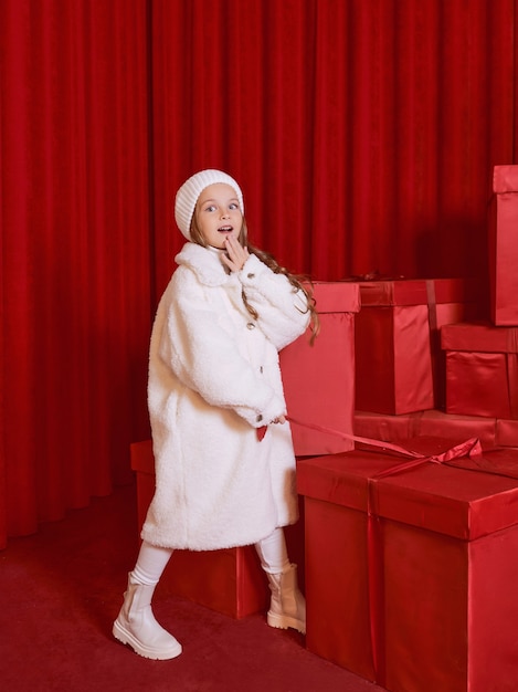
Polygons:
M362 282L355 434L385 449L298 465L307 646L392 692L517 686L518 167L494 180L491 319L462 282Z

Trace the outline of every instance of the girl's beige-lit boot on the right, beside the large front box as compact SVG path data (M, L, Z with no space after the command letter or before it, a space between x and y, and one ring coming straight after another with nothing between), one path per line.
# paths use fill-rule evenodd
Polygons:
M282 574L268 574L272 600L267 615L271 627L296 629L306 633L306 600L298 590L297 566L289 565Z

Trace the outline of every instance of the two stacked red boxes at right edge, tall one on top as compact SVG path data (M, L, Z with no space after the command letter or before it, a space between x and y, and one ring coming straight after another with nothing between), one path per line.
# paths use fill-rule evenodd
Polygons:
M490 323L448 325L446 411L518 419L518 166L496 166L489 223ZM518 445L518 438L516 438Z

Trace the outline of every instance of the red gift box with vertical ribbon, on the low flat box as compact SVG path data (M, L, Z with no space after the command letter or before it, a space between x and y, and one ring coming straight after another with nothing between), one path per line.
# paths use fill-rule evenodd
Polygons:
M409 413L440 408L444 367L440 329L472 319L479 306L461 279L360 282L356 318L356 408Z

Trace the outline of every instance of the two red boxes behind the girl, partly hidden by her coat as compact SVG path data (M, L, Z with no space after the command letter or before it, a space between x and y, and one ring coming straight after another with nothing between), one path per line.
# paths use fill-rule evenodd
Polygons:
M359 290L350 283L316 283L314 297L321 332L314 345L309 333L281 353L284 390L298 458L348 451L353 442L336 438L304 422L352 434L355 415L355 313ZM155 463L150 440L131 444L131 468L137 475L138 524L144 523L155 491ZM218 450L214 450L218 453ZM286 528L289 557L299 566L304 588L304 503L302 520ZM241 618L265 610L268 589L252 546L224 551L176 551L159 589L219 612Z

